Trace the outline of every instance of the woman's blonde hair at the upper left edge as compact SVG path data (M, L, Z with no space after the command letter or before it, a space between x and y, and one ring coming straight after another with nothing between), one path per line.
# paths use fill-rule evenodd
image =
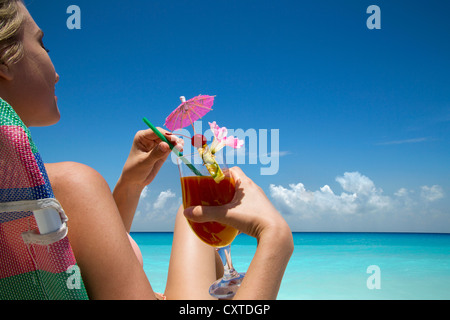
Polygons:
M0 0L0 63L13 64L23 56L20 39L24 17L20 13L22 0Z

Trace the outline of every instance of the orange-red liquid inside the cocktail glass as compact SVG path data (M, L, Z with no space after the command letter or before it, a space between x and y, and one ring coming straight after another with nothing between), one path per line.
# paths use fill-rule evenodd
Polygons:
M219 183L211 176L182 177L181 189L184 208L221 206L231 202L235 192L234 180L229 176ZM203 242L217 248L230 245L238 234L238 230L219 222L188 222Z

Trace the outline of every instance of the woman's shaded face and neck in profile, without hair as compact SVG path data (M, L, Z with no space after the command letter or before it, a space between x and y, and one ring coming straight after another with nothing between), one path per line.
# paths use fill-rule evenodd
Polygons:
M20 4L20 10L25 16L22 35L24 56L2 72L0 94L12 105L25 125L52 125L60 119L55 96L59 76L42 42L43 32L23 4Z

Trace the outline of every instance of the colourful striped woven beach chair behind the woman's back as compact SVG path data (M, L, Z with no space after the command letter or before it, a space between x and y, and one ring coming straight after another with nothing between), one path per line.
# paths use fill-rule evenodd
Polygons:
M0 99L0 300L86 300L54 198L30 131Z

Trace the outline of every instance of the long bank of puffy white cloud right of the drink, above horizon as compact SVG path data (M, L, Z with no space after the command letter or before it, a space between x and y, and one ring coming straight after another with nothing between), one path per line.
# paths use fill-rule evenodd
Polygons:
M439 232L450 232L448 210L437 201L444 198L438 185L423 186L419 192L400 188L385 195L359 172L346 172L336 181L343 190L340 194L329 185L312 191L302 183L288 187L272 184L269 191L296 231L432 232L435 223Z

